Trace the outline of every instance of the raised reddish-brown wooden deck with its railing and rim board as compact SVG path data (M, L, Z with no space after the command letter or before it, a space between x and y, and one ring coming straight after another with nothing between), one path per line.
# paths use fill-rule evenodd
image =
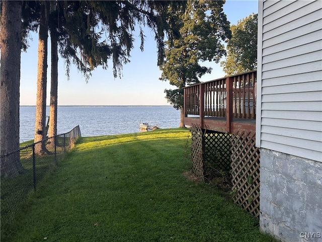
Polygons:
M186 87L185 125L230 134L255 132L256 74L255 70Z

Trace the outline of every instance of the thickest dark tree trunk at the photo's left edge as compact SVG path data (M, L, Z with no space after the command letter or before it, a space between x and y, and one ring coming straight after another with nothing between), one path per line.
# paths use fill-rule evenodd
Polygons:
M3 1L0 61L1 155L19 149L19 87L21 56L21 1ZM16 176L23 167L19 152L1 158L1 176Z

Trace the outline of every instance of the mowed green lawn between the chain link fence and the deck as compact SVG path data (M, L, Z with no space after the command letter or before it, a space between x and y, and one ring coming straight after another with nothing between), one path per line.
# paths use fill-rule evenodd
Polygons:
M187 178L188 136L79 139L1 241L275 241L223 192Z

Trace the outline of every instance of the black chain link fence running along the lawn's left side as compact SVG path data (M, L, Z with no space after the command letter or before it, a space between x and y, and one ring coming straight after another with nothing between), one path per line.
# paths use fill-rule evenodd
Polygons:
M22 209L29 194L81 137L79 126L1 156L1 230Z

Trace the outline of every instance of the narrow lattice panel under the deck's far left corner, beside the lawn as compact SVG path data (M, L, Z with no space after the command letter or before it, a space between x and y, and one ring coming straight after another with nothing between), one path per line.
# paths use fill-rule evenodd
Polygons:
M204 180L202 161L202 139L203 133L200 126L191 125L192 138L192 172L201 180Z

